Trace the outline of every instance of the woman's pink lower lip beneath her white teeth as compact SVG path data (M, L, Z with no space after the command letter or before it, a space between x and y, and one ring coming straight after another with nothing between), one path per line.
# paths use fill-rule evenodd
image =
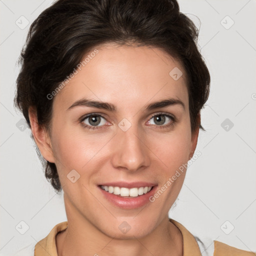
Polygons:
M121 197L114 193L108 193L104 189L98 186L103 196L115 206L122 209L135 209L144 206L149 203L149 197L152 196L157 188L157 185L153 186L151 190L145 194L138 195L136 197Z

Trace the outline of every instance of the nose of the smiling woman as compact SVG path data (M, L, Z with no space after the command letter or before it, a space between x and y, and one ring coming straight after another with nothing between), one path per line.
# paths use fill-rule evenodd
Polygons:
M117 130L112 143L111 163L115 168L134 172L149 165L149 148L142 131L138 132L136 125L123 131Z

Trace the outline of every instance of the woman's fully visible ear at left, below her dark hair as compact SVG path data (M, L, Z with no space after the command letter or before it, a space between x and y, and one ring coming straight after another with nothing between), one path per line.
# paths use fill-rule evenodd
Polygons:
M48 132L46 131L45 127L38 125L36 111L31 106L28 109L28 116L34 141L38 146L43 158L49 162L55 162Z

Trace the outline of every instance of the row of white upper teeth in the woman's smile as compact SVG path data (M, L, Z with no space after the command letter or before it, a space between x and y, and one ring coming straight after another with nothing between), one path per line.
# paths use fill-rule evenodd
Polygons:
M140 186L140 187L119 187L119 186L100 186L102 189L107 191L108 193L114 193L120 196L132 196L136 197L138 195L145 194L151 190L151 186Z

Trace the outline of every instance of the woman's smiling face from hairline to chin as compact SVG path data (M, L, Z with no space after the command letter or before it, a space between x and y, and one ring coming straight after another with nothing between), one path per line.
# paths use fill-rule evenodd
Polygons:
M185 73L158 48L95 48L52 99L45 157L57 166L67 218L111 237L142 237L167 216L184 180L185 169L176 171L196 146Z

